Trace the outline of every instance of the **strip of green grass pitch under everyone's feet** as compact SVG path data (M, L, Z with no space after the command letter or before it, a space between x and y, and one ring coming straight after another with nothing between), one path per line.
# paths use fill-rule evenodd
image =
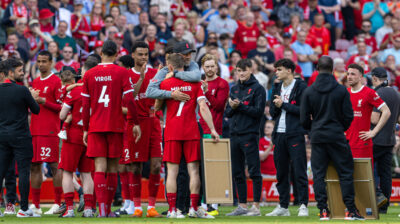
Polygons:
M310 206L310 216L309 217L297 217L297 206L290 206L290 217L265 217L265 213L268 213L274 209L274 206L262 207L261 217L226 217L225 214L230 212L234 207L232 206L221 206L220 207L220 215L217 216L214 220L205 220L205 219L166 219L166 218L132 218L130 216L122 216L121 218L81 218L81 213L76 213L77 217L75 218L58 218L56 215L46 216L43 215L41 218L16 218L14 216L5 216L0 218L1 223L55 223L55 224L64 224L64 223L163 223L163 224L172 224L172 223L324 223L319 221L318 217L318 209L315 206ZM161 213L165 211L167 207L158 207L157 210ZM47 209L43 209L45 212ZM144 211L145 214L145 211ZM389 213L386 215L381 215L380 220L366 220L366 221L346 221L343 220L331 220L325 223L400 223L400 207L391 206L389 207Z

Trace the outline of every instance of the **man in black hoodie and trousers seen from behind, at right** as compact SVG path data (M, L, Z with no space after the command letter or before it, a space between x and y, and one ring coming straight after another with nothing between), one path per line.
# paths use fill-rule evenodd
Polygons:
M319 75L303 95L300 109L301 124L311 130L311 168L314 192L320 220L329 220L325 175L332 160L339 175L343 202L348 220L362 220L354 204L353 156L344 132L353 121L350 94L332 75L333 60L323 56L318 61Z

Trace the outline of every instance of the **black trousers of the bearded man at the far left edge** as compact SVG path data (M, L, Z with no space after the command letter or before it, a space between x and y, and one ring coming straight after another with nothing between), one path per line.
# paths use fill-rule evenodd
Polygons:
M0 180L6 176L11 162L15 158L19 173L19 192L21 194L21 209L28 209L29 177L33 157L32 138L13 138L0 141Z

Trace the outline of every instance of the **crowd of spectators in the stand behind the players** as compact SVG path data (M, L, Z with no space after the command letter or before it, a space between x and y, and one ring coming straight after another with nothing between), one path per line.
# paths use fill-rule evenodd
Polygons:
M183 40L196 50L199 65L206 54L217 56L218 75L230 86L240 59L249 58L253 74L265 88L267 106L260 127L261 171L276 175L270 147L269 114L276 83L274 62L287 58L295 73L311 85L323 55L334 59L334 76L347 85L347 66L370 71L381 66L388 85L400 90L400 1L397 0L1 0L0 58L24 62L24 84L38 77L38 53L53 55L52 70L71 66L78 73L90 54L100 54L113 40L118 58L130 55L135 41L149 45L149 67L165 65L165 52ZM204 71L202 71L204 73ZM229 137L224 118L223 137ZM398 127L398 126L397 126ZM397 129L398 132L398 129ZM400 177L400 139L393 150L393 177ZM308 146L307 156L310 157ZM309 178L312 178L310 168Z

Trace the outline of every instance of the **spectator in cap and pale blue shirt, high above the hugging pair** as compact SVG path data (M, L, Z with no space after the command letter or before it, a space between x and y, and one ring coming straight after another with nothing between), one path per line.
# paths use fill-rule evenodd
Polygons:
M238 25L235 20L229 18L228 5L222 4L218 7L218 16L214 16L207 26L208 32L214 32L218 35L229 33L231 38L235 34Z

